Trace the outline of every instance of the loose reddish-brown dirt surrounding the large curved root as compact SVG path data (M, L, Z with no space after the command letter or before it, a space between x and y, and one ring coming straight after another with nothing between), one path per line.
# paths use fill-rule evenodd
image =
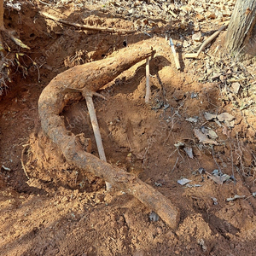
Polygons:
M177 27L177 20L168 23L156 16L154 37L149 38L144 32L86 32L39 14L47 11L63 19L56 9L71 22L126 30L145 17L129 20L114 3L108 8L102 2L64 2L49 2L49 8L25 1L20 12L5 9L6 27L18 32L31 49L20 49L26 55L20 56L20 67L0 101L0 255L254 255L256 127L248 105L253 83L245 71L253 74L253 64L242 69L230 61L230 67L222 66L225 73L236 68L237 76L246 73L248 78L239 95L231 94L226 79L218 76L216 82L207 76L207 70L217 68L207 67L212 61L208 58L219 57L217 47L224 56L224 33L200 60L185 60L177 49L182 65L177 71L166 33L177 43L190 33ZM212 24L204 31L212 31ZM150 40L156 50L150 61L150 104L144 102L141 61L100 91L107 100L94 98L96 114L108 163L172 201L181 213L177 230L157 220L136 198L117 189L106 192L101 178L68 163L45 136L38 118L38 98L57 74L143 40ZM245 104L248 107L241 108ZM230 113L234 123L207 120L206 112ZM67 130L91 139L87 150L98 156L86 103L79 94L61 116ZM216 145L205 143L195 129L214 131L218 137L207 139ZM229 178L220 183L217 175L214 181L214 170ZM191 180L189 185L177 183L183 177ZM235 195L242 197L227 201Z

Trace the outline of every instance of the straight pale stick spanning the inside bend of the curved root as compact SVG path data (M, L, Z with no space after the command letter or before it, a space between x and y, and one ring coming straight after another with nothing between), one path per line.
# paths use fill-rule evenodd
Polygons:
M89 115L90 115L90 122L91 122L92 129L93 129L93 132L94 132L94 137L96 139L96 145L97 145L97 148L98 148L98 153L99 153L100 159L107 162L107 158L106 158L105 151L104 151L103 144L102 144L101 131L100 131L100 128L99 128L97 117L96 117L96 110L94 108L94 104L93 104L93 101L92 101L92 96L87 95L87 96L84 96L84 97L85 97L88 112L89 112ZM112 185L110 183L106 182L106 189L109 190L109 189L111 189L111 187L112 187Z

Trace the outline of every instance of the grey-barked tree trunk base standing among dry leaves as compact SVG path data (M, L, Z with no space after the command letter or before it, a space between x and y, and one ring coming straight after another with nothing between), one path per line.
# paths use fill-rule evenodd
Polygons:
M225 47L231 55L256 54L254 26L256 26L256 0L237 0L225 39ZM251 49L254 49L254 53Z

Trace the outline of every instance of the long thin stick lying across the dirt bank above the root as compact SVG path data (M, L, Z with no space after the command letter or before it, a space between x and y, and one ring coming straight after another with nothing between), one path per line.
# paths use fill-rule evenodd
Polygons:
M137 32L136 30L125 30L125 29L115 29L115 28L109 28L109 27L97 27L97 26L87 26L84 24L79 24L79 23L73 23L69 22L66 20L61 20L53 15L49 15L45 12L40 12L41 15L43 15L45 18L48 18L50 20L55 20L60 23L66 24L68 26L76 26L80 27L85 30L96 30L96 31L101 31L101 32L110 32L110 33L118 33L118 34L131 34Z

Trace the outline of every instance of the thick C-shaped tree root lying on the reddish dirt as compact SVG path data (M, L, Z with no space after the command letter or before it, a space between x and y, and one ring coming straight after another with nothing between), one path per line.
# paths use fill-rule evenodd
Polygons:
M41 124L49 138L61 148L67 161L80 169L102 177L113 187L135 196L149 209L156 212L172 229L177 228L179 210L164 195L131 173L86 153L72 132L67 131L60 116L70 90L82 90L83 96L92 95L116 78L120 73L153 54L147 44L136 44L122 49L114 57L73 67L55 77L39 98L38 108ZM85 86L84 86L85 85ZM73 94L69 93L69 98Z

